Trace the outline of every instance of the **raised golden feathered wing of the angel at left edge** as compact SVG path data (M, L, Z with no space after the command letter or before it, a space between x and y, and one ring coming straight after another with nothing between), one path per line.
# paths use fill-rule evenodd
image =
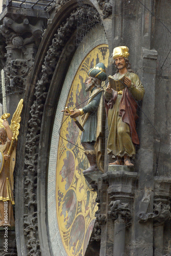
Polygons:
M18 130L20 127L19 123L21 121L20 115L21 115L22 108L23 108L23 99L21 99L19 101L16 111L12 117L11 124L10 124L11 131L13 133L14 139L16 139L16 140L17 140L17 136L19 134ZM0 122L1 122L1 120L0 120Z

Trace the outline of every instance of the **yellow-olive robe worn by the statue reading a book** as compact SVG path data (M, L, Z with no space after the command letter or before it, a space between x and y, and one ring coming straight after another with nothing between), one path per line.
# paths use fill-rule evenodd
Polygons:
M114 77L119 79L121 75L117 73ZM132 81L129 91L134 99L142 100L145 91L139 77L132 72L127 72L126 77ZM112 98L112 95L105 91L104 97L106 101L109 101ZM133 157L135 155L135 146L131 139L130 126L123 122L122 117L119 116L121 98L122 95L118 94L113 108L108 111L109 136L107 142L107 153L112 153L114 156L119 157L123 157L124 155Z

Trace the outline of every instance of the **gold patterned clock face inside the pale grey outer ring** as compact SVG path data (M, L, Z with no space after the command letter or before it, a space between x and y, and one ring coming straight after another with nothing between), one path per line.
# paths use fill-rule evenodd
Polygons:
M96 63L108 67L108 45L96 46L82 60L71 81L65 106L70 110L83 108L89 92L85 92L88 71ZM102 84L103 85L103 84ZM84 102L84 103L83 103ZM81 118L79 119L81 123ZM95 222L96 192L83 176L89 164L80 143L81 131L75 122L63 115L57 153L56 211L61 240L67 255L85 254Z

